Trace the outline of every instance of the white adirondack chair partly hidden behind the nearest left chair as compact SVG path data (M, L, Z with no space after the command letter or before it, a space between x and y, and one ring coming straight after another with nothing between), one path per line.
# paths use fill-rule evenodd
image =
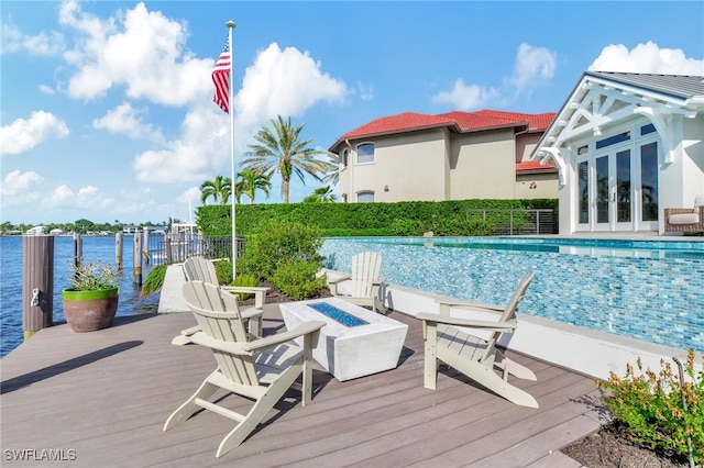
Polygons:
M211 260L204 257L188 257L184 261L184 274L188 281L204 281L210 285L218 285L218 275L216 274L216 267ZM220 289L231 293L241 292L246 294L254 294L254 307L242 308L242 319L248 324L250 333L256 336L262 336L263 323L262 316L264 313L264 303L266 301L266 292L270 288L265 287L245 287L245 286L220 286ZM198 330L189 328L190 331ZM186 333L188 331L185 331Z

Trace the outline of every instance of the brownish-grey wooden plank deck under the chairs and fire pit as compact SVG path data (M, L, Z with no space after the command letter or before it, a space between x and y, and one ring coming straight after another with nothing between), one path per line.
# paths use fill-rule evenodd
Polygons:
M233 427L226 417L202 411L162 431L215 367L208 349L170 345L195 324L190 313L121 317L86 334L66 325L43 330L0 361L2 466L36 466L40 458L41 466L76 467L580 466L556 450L598 428L588 378L514 355L538 376L516 385L539 410L516 406L450 369L438 390L427 390L420 324L391 316L409 325L398 368L345 382L317 368L310 405L289 391L222 458L216 448ZM264 326L284 327L277 305L266 307ZM226 398L233 409L246 404Z

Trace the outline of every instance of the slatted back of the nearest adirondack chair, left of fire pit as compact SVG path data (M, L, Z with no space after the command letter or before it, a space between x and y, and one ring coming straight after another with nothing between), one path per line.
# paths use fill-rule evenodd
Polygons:
M204 281L188 281L184 296L198 325L210 338L223 343L245 343L246 332L240 316L237 299L220 288ZM233 382L258 386L256 369L251 355L232 354L212 349L220 371Z

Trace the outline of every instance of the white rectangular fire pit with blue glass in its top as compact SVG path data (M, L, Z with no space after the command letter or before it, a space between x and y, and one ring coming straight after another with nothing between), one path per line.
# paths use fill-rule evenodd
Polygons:
M394 369L408 325L337 298L279 304L288 330L322 320L312 357L343 381Z

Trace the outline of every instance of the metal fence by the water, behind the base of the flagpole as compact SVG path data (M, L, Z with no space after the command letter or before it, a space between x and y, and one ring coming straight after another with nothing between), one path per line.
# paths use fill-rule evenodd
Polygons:
M237 239L238 256L244 249L244 238ZM205 236L200 233L180 232L150 234L148 250L145 252L151 265L167 265L185 261L196 255L206 258L232 258L232 237Z

